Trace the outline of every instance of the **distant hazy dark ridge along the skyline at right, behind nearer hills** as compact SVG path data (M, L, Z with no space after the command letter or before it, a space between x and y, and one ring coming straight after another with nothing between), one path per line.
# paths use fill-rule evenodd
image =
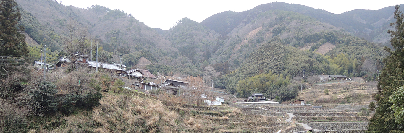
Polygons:
M393 15L391 14L394 11L394 6L379 10L353 10L337 15L309 6L288 4L285 2L272 2L261 4L241 13L232 11L217 13L206 18L201 23L215 30L222 36L225 36L238 25L250 23L254 21L254 19L257 19L259 14L271 10L291 11L310 16L323 23L329 23L337 28L342 28L354 36L380 43L388 41L387 30L391 30L389 24L394 21L392 19Z

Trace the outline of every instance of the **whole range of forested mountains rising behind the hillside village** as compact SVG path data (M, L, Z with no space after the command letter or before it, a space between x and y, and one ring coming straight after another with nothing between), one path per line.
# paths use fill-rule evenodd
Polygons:
M308 75L356 73L370 78L381 70L387 55L382 46L394 11L389 6L337 15L273 2L241 13L218 13L201 23L184 18L170 30L161 30L147 27L136 15L99 5L82 9L54 0L17 2L25 32L38 43L29 44L32 57L39 57L44 45L50 48L48 57L61 56L65 25L76 21L101 44L102 61L135 67L145 57L153 63L147 66L150 72L177 76L203 76L210 65L220 72L216 87L231 92L240 88L239 81L260 74L275 74L284 81L302 76L303 70ZM321 48L324 44L329 47Z

